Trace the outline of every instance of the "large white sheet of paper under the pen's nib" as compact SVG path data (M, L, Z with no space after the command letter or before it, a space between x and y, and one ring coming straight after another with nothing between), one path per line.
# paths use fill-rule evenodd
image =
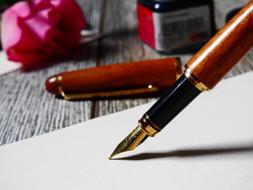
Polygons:
M151 106L0 147L3 190L251 190L253 73L200 95L123 160L115 146Z

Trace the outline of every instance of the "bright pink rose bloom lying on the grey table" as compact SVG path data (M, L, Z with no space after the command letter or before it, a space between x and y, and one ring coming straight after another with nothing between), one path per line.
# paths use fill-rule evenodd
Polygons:
M85 26L74 0L21 1L3 14L2 46L9 60L29 66L76 46Z

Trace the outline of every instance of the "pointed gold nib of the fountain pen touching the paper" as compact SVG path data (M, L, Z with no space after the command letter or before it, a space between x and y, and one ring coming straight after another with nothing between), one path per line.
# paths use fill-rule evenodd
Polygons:
M110 160L116 155L134 150L139 144L147 139L148 135L143 131L141 126L136 127L123 141L119 143L110 156Z

